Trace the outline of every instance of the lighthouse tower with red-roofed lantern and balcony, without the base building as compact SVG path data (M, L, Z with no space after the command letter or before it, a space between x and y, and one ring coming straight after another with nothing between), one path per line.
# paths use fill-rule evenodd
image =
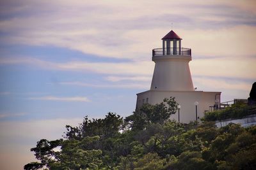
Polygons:
M181 38L170 31L163 39L163 48L153 50L156 63L150 90L194 90L189 70L191 49L181 48Z

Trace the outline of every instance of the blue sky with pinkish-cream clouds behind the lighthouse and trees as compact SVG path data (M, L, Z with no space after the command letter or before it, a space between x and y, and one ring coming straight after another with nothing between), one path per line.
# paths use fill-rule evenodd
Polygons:
M0 0L0 169L65 125L131 115L152 49L171 29L191 48L197 90L247 99L256 81L256 1Z

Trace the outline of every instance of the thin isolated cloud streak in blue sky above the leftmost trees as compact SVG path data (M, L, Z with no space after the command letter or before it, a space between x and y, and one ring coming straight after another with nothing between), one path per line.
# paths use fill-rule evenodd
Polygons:
M44 101L71 101L71 102L90 102L87 97L56 97L56 96L43 96L43 97L30 97L31 100L44 100Z

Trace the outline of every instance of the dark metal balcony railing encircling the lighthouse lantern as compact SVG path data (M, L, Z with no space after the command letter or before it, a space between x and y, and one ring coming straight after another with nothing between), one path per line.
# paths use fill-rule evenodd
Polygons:
M190 48L155 48L152 50L152 56L158 55L189 55L191 56Z

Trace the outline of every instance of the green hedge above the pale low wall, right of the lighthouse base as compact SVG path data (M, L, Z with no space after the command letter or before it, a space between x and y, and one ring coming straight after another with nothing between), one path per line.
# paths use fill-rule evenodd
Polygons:
M248 115L255 114L255 110L251 110L252 106L248 106L245 103L236 103L224 110L216 110L205 113L204 120L206 121L216 121L225 120L228 118L243 118Z

